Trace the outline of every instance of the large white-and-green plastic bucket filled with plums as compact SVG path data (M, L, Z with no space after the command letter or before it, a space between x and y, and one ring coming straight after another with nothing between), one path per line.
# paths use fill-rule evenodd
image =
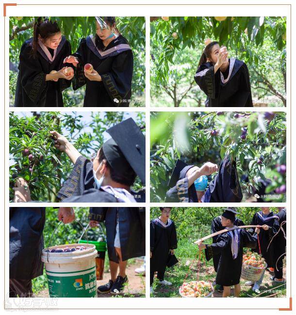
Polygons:
M51 249L79 246L66 244L51 246L42 251L50 298L96 298L95 245L85 244L86 250L76 252L50 252ZM49 252L47 252L49 250Z

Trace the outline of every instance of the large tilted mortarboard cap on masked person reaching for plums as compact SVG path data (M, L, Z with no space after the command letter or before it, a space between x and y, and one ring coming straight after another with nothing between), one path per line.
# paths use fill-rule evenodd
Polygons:
M145 184L145 137L132 118L107 130L112 139L102 148L110 166L120 174L131 169Z

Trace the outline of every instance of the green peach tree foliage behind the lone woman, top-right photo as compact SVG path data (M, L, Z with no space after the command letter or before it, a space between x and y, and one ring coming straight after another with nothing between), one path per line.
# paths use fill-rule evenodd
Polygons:
M150 29L151 87L158 91L157 95L151 94L155 106L164 102L168 87L174 89L172 83L176 82L182 91L191 90L190 85L208 39L217 40L220 45L228 48L230 57L236 57L247 64L254 98L274 95L277 106L281 102L285 105L286 17L170 16L169 20L161 17L154 19ZM180 73L180 79L183 78L181 82L175 78L175 70L182 72L186 65L190 65L191 72L186 73L185 78ZM182 94L180 92L175 97L175 102L168 103L180 106L176 100ZM205 99L199 89L194 94L197 102L200 95ZM186 106L188 102L191 105L193 97L183 96L182 99L181 104Z

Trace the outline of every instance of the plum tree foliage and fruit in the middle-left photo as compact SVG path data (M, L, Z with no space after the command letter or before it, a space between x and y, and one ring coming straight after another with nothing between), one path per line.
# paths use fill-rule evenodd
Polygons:
M33 112L32 116L22 117L10 112L10 200L13 199L16 178L23 177L29 184L32 200L57 201L56 194L73 164L65 153L54 147L50 130L65 135L82 155L89 158L103 144L103 132L127 118L120 111L92 112L88 122L83 116L83 112ZM138 112L135 120L145 133L145 114ZM134 188L139 187L137 178Z

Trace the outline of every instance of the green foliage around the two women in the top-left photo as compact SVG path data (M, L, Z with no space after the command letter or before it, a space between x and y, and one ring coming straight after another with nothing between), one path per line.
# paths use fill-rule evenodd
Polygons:
M11 104L14 101L17 65L20 47L25 40L33 36L34 21L38 16L12 16L9 19L9 60L10 60L10 94ZM94 16L50 16L56 20L62 33L70 42L72 52L79 46L80 40L87 35L96 33L96 20ZM133 98L137 100L135 106L143 106L145 94L145 17L143 16L118 16L116 26L120 33L129 41L134 54L134 67L132 77ZM84 89L77 91L66 89L63 97L66 106L83 104Z

